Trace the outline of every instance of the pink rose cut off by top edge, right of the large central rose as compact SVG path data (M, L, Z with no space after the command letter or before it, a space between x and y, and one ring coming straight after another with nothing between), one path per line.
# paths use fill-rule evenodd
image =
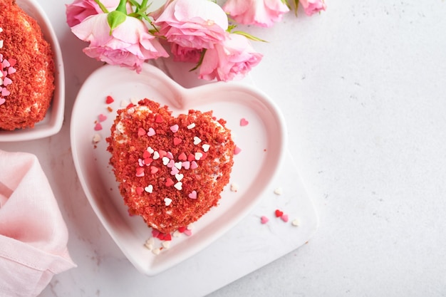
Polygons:
M224 11L240 24L271 27L289 11L281 0L228 0Z

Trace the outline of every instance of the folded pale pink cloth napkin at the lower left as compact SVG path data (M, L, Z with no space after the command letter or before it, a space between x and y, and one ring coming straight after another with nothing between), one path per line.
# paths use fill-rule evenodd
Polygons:
M35 155L0 150L0 296L38 296L76 266L68 230Z

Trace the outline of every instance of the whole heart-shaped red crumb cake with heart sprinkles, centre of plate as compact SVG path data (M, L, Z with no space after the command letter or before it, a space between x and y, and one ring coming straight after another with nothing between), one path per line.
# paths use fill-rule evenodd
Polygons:
M224 124L212 119L212 111L175 118L148 99L118 110L108 151L129 213L170 233L217 206L234 163L235 145Z

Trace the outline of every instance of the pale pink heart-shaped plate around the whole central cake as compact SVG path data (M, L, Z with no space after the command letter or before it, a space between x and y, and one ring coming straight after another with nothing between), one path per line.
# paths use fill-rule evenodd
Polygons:
M107 96L114 102L106 103ZM128 215L109 165L105 142L116 110L142 98L168 105L173 115L190 109L213 110L214 116L227 120L232 138L241 148L234 156L231 179L219 206L194 224L192 236L180 234L172 238L170 246L163 246L159 254L144 245L152 236L151 229L140 217ZM286 152L285 142L284 119L276 105L259 90L242 83L182 88L147 63L139 74L118 66L99 68L85 80L71 117L73 159L85 195L125 256L138 271L149 276L196 254L249 214L279 169ZM159 251L161 244L156 239L154 250Z

